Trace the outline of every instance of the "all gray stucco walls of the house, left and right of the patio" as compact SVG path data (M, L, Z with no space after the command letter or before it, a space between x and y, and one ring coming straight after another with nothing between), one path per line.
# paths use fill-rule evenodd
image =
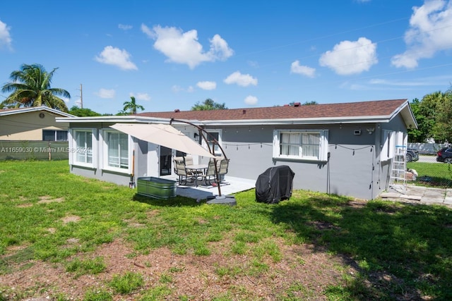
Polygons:
M80 124L71 128L97 128L97 141L100 129L109 124ZM367 128L375 128L368 133ZM328 130L328 161L299 161L273 159L273 130L315 129ZM206 130L221 130L222 148L230 166L227 176L256 180L272 166L287 165L295 172L294 189L327 192L336 195L374 199L386 189L391 161L380 162L381 137L383 130L406 132L403 120L396 117L390 123L372 124L332 124L332 125L254 125L246 127L222 126L207 127ZM361 130L360 135L355 131ZM135 175L149 176L155 162L148 153L148 143L133 140L135 154ZM100 162L101 152L97 152ZM157 155L155 155L157 158ZM201 161L206 163L208 159ZM100 166L99 164L97 166ZM130 175L103 171L100 168L71 166L71 172L89 178L107 180L119 185L129 185ZM157 174L158 171L155 171ZM155 175L152 175L155 176Z

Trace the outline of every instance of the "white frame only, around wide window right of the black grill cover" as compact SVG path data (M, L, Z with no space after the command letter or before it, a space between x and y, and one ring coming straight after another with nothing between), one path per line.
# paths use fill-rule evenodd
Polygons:
M298 142L299 155L281 154L281 134L319 134L319 154L304 156L302 137ZM328 161L328 130L273 130L273 159L290 159L299 161Z

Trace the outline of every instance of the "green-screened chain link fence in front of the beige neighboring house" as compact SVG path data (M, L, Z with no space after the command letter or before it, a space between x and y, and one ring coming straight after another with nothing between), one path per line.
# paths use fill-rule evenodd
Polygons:
M0 141L0 161L67 160L67 141Z

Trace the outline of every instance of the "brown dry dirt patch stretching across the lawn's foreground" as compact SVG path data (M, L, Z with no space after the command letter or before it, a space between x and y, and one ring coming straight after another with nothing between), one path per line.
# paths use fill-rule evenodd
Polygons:
M139 300L146 292L165 286L167 293L157 300L213 300L219 296L227 300L277 300L288 295L291 300L326 300L328 285L345 285L343 274L355 274L339 257L319 252L311 245L275 242L282 258L273 261L263 257L256 262L255 257L225 254L230 243L225 241L210 245L212 254L196 256L174 254L167 248L136 255L126 242L116 240L93 253L77 256L81 261L102 257L107 268L100 274L76 276L66 271L64 263L23 262L11 266L11 273L0 274L0 292L3 288L11 299L22 294L27 300L52 300L57 295L82 300L88 290L107 290L114 300ZM114 293L110 281L127 272L141 274L144 285L129 295Z

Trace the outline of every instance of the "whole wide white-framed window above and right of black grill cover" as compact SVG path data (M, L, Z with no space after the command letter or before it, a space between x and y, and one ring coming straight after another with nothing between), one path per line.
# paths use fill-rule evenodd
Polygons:
M326 161L328 130L275 130L273 157Z

